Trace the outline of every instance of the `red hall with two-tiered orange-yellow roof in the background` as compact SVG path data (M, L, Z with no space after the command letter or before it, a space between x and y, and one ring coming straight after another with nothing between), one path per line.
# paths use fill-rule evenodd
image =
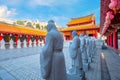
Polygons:
M76 30L78 35L82 33L96 38L97 33L99 32L99 26L96 26L95 16L93 14L79 18L72 18L67 26L67 28L60 30L64 34L66 40L70 40L72 38L71 32L73 30Z

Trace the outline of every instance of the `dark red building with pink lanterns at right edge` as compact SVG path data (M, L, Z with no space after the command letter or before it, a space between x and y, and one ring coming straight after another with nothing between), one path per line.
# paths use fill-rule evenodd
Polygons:
M108 46L118 49L120 31L120 0L101 0L100 33Z

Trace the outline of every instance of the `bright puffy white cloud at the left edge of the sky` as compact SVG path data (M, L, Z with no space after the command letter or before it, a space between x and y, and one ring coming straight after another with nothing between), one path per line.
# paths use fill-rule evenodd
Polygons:
M11 17L16 15L16 10L15 9L10 9L8 10L8 7L5 5L0 6L0 17Z

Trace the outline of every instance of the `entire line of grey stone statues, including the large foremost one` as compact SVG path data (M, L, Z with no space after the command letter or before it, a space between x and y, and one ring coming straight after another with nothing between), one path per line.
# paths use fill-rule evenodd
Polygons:
M82 34L79 39L76 31L72 32L73 40L69 46L72 68L66 71L63 54L63 36L57 30L53 20L48 21L47 31L46 43L40 53L42 79L68 80L69 75L77 75L79 80L85 80L84 63L88 65L88 62L91 62L91 57L95 53L93 39L89 39Z

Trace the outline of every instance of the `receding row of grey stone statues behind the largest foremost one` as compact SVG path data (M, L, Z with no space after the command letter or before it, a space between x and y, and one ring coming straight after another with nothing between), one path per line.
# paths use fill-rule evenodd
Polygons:
M80 37L78 37L76 31L72 32L72 37L73 40L69 45L72 67L68 73L80 74L81 77L85 77L84 72L88 71L89 64L96 53L95 39L83 34L80 34Z

